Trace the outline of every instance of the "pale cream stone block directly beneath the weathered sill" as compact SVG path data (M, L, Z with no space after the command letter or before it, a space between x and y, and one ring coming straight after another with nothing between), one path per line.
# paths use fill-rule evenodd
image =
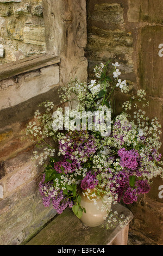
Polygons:
M0 82L0 109L15 106L36 95L46 93L58 83L58 65L21 75L18 81L14 78L2 81Z

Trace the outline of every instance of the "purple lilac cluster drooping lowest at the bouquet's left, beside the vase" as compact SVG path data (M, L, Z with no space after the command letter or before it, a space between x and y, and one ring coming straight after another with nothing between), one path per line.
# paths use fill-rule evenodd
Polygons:
M56 190L52 181L45 182L45 174L39 183L39 191L42 196L42 202L45 207L49 207L51 200L53 208L58 214L61 214L67 206L72 208L71 200L64 197L62 190Z

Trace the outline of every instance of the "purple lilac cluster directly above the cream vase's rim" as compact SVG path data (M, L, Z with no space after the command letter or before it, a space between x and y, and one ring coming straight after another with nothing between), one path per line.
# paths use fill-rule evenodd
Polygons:
M93 175L91 172L88 172L84 179L81 182L80 187L83 190L87 190L88 188L92 190L98 184L98 180L96 179L97 174Z

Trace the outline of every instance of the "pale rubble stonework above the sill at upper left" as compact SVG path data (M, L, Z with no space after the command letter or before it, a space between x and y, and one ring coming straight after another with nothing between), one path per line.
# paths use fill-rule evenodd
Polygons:
M45 50L42 0L0 0L0 64Z

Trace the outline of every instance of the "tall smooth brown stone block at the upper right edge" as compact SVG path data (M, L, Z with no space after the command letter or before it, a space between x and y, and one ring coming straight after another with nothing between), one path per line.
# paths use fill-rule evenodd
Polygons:
M148 95L163 96L162 87L162 66L163 57L159 56L162 51L159 46L163 44L163 27L149 26L141 32L141 52L140 52L140 84Z

